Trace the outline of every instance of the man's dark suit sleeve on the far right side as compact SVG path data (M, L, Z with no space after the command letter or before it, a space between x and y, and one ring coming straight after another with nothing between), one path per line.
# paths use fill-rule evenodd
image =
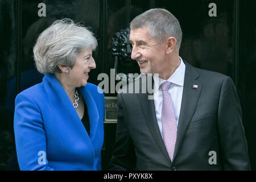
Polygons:
M218 131L224 170L250 170L240 100L230 77L221 86Z

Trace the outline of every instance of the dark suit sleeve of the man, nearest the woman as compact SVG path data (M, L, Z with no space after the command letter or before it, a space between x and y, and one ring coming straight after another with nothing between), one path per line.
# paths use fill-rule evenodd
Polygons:
M136 158L133 142L129 134L125 105L121 94L118 94L118 122L115 147L109 170L135 170Z

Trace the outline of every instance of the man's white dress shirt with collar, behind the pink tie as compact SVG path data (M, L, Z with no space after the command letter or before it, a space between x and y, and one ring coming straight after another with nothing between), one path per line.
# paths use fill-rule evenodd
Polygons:
M177 67L175 72L168 78L167 81L172 82L170 88L168 88L168 93L172 98L172 105L174 106L176 123L178 126L179 117L180 117L180 107L181 107L181 99L183 93L183 85L184 85L184 77L185 77L185 64L180 57L180 65ZM155 113L156 119L158 121L158 126L160 133L163 138L163 130L162 130L162 105L163 105L163 92L162 89L159 89L159 86L166 80L162 78L153 76L154 78L154 102L155 102Z

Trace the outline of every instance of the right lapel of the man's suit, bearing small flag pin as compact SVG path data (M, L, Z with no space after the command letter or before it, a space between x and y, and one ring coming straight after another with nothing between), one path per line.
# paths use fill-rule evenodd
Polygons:
M196 79L200 76L196 69L184 61L185 67L185 78L183 96L181 100L181 109L179 117L179 125L177 128L177 138L174 151L174 158L179 152L181 143L183 142L184 135L187 131L188 125L191 122L193 114L195 113L196 105L199 100L203 85L200 84ZM197 89L193 88L193 85L197 85Z

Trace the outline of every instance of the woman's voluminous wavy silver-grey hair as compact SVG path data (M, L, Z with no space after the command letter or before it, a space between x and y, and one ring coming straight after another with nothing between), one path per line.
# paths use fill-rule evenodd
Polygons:
M33 48L36 69L48 74L61 72L58 65L73 68L81 51L96 47L97 40L86 27L68 18L56 20L36 40Z

